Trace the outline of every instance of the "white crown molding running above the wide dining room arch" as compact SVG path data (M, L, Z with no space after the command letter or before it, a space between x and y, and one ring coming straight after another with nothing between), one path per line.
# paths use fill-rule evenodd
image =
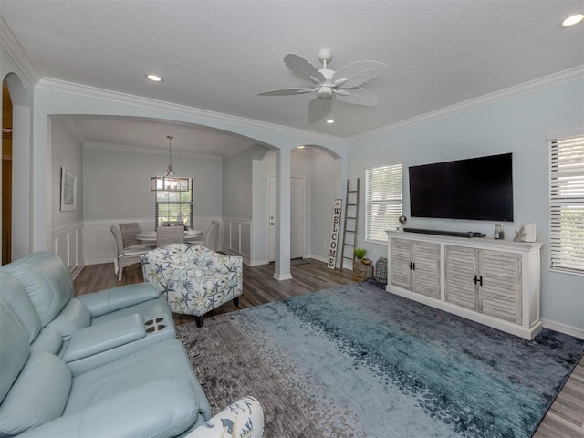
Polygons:
M346 140L341 137L335 137L332 135L318 134L311 132L309 130L297 130L289 128L283 125L276 125L275 123L267 123L265 121L245 119L243 117L232 116L229 114L224 114L221 112L214 112L209 110L201 110L194 107L188 107L186 105L180 105L176 103L166 102L163 100L149 99L141 96L134 96L131 94L120 93L117 91L111 91L109 89L98 89L96 87L89 87L87 85L76 84L73 82L68 82L60 79L54 78L41 78L36 84L37 87L43 89L55 89L57 91L64 91L69 93L80 94L83 96L89 96L97 99L113 100L120 103L128 103L130 105L137 106L147 106L150 108L155 108L157 110L180 112L182 114L191 115L194 117L201 117L212 120L220 120L225 123L235 124L244 127L255 127L260 130L269 130L277 132L279 134L287 134L294 136L301 136L304 138L304 142L307 139L309 141L328 141L335 143L345 143Z

